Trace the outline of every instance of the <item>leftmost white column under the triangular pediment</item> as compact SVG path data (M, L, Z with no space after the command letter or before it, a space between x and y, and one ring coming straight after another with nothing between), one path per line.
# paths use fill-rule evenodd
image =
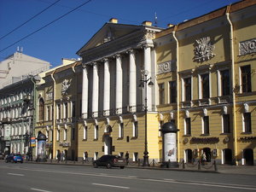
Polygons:
M87 68L83 65L83 83L82 83L82 118L87 118L88 113L88 73Z

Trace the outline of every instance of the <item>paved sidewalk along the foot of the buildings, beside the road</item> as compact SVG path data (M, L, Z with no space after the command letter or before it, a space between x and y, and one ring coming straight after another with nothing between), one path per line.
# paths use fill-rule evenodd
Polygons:
M4 162L4 161L3 161ZM35 164L54 164L54 165L67 165L67 166L92 166L92 162L82 161L61 161L48 160L47 162L36 162L36 161L25 161L25 163ZM180 172L212 172L212 173L224 173L224 174L241 174L241 175L253 175L256 176L256 166L224 166L217 165L217 171L214 170L212 165L201 166L201 170L198 170L198 166L187 166L183 169L182 165L178 168L161 168L160 166L137 166L137 164L131 164L126 166L127 168L134 169L152 169L152 170L163 170L163 171L180 171Z

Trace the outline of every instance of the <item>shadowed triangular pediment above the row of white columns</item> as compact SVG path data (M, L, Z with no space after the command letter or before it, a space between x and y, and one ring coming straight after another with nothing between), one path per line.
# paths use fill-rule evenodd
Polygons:
M144 28L145 26L106 23L81 49L79 49L77 54L80 55L80 53L88 49L93 49L113 41L114 39L125 37L125 35L131 34L132 32L143 32Z

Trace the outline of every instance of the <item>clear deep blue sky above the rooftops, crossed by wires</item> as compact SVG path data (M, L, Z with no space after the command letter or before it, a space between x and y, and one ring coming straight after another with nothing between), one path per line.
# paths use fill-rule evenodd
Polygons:
M57 0L0 0L0 38L37 15ZM78 58L76 52L112 17L119 23L141 25L144 20L158 26L177 24L207 14L238 0L91 0L80 9L25 38L49 22L65 15L88 0L61 0L41 15L0 39L0 61L12 55L17 47L23 53L49 61L53 67L62 58ZM9 45L12 45L9 47ZM8 49L5 49L9 47ZM4 50L3 50L4 49Z

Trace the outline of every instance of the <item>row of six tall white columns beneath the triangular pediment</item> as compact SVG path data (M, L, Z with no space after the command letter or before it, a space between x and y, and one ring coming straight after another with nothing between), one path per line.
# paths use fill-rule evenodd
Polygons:
M143 68L141 70L147 70L149 74L152 73L152 59L151 59L151 48L153 45L146 44L143 46ZM92 94L91 94L91 110L92 110L92 117L97 118L99 116L99 96L100 96L100 90L99 90L99 84L100 84L100 78L99 78L99 70L100 68L103 68L103 115L108 116L110 115L110 110L114 109L115 114L121 114L123 113L123 109L127 106L123 106L124 104L124 89L123 89L123 65L125 63L122 61L122 55L128 54L129 55L129 94L127 95L129 97L129 103L128 104L128 110L131 113L134 113L137 111L136 106L138 105L137 101L137 87L139 81L137 81L137 70L140 68L137 65L141 63L137 63L136 58L136 49L127 49L124 52L120 54L115 54L108 56L106 58L102 58L100 60L92 61L89 63L83 64L83 85L82 85L82 116L83 119L90 118L89 117L89 111L88 107L90 105L89 103L89 84L92 84ZM110 65L112 64L110 62L110 59L114 60L115 64L115 71L110 70ZM103 67L100 67L99 65L103 65ZM89 73L89 67L92 67L92 78L90 78ZM115 73L115 74L114 74ZM114 84L114 108L111 108L111 76L115 75L115 84ZM90 82L92 81L92 82ZM148 92L148 107L152 105L152 96L151 93ZM139 103L142 104L142 103Z

